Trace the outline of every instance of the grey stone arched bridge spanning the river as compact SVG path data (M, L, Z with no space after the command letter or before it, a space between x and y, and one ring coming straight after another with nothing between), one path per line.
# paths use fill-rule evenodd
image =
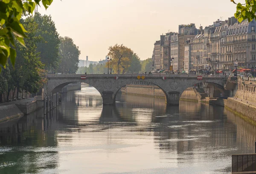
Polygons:
M125 85L156 85L163 90L166 103L178 105L180 95L195 84L211 84L224 90L227 77L224 75L196 74L47 74L47 95L54 94L73 82L87 83L102 96L103 105L115 103L116 93Z

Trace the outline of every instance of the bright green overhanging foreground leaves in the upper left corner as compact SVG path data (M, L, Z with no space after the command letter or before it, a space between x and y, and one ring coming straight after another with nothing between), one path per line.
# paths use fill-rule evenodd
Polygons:
M25 47L24 38L26 29L20 23L23 13L32 14L36 4L40 1L45 9L53 0L0 0L0 64L5 68L7 59L10 57L11 64L14 67L16 57L15 38L18 43ZM14 48L13 48L14 47ZM0 71L1 71L0 67Z

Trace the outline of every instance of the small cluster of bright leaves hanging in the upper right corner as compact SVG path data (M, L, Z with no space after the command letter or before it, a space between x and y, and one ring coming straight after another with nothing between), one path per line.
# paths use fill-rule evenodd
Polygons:
M235 3L236 13L235 17L241 23L242 20L247 19L249 22L256 17L256 1L255 0L245 0L244 4L236 3L234 0L230 0Z

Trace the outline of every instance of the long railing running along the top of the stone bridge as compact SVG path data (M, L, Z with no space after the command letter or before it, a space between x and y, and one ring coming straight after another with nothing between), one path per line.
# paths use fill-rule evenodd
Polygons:
M221 78L227 79L226 75L207 75L207 74L47 74L48 78L61 78L61 77L76 77L80 78L81 76L86 77L179 77L179 78L197 78L198 76L202 76L203 78Z

